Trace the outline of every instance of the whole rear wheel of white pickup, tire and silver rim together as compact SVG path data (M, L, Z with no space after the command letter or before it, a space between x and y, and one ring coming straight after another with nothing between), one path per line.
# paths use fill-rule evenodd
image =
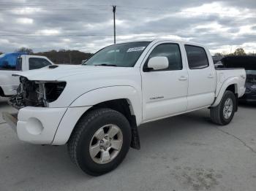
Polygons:
M211 107L211 121L218 125L227 125L233 119L236 110L236 96L226 90L218 106Z

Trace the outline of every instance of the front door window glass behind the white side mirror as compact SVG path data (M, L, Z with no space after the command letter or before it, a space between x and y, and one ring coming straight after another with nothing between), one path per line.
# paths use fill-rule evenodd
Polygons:
M145 67L148 64L148 60L150 58L156 56L165 56L169 61L169 67L166 70L181 70L182 69L182 61L181 61L181 51L179 49L178 44L159 44L157 47L154 47L154 50L148 56Z

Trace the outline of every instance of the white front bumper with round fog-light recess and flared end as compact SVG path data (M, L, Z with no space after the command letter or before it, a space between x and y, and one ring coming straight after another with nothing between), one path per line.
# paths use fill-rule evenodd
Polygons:
M91 106L46 108L24 107L17 114L3 113L4 120L31 144L66 144L75 124Z

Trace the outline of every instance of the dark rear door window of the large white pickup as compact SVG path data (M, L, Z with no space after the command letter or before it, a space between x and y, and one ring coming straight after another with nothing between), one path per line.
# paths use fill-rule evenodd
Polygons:
M209 66L206 50L203 47L185 45L189 69L204 69Z

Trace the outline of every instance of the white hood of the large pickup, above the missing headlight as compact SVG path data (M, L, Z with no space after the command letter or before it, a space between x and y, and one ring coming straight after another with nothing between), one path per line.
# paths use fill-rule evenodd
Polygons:
M29 80L43 80L56 81L64 77L79 75L79 74L93 74L99 71L112 71L122 69L122 67L114 66L85 66L85 65L58 65L54 69L46 66L42 69L21 71L15 75L26 77ZM123 68L124 69L124 68Z

